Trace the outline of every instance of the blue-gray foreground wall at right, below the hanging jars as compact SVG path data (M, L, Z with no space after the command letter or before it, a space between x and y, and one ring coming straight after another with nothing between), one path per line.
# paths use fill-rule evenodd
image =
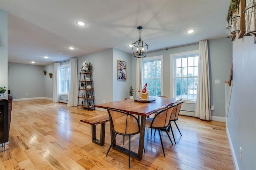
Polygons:
M227 133L236 169L256 169L256 44L254 36L233 43L233 88ZM240 161L240 148L242 161Z

